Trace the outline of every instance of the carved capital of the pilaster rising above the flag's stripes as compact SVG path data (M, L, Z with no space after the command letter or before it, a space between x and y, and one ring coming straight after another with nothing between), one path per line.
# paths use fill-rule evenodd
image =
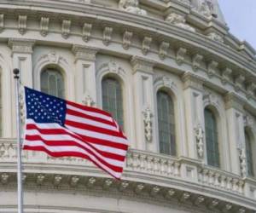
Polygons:
M96 60L96 53L99 49L79 45L79 44L73 44L72 51L73 55L75 55L75 61L77 60L90 60L95 61Z

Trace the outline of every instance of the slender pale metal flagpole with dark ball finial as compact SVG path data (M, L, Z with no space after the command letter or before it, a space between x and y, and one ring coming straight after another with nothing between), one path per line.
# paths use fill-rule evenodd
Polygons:
M15 75L15 96L16 96L16 133L17 133L17 185L18 185L18 213L23 213L23 192L22 192L22 164L21 164L21 141L20 141L20 70L14 69Z

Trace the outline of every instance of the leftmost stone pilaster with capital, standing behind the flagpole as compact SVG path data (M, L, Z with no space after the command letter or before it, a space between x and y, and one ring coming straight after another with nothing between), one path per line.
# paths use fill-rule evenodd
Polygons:
M10 38L9 47L12 49L12 61L13 68L20 69L20 82L30 88L33 87L32 81L32 47L35 43L34 40ZM12 84L14 84L14 78L12 75ZM12 113L15 115L15 87L12 87ZM21 118L22 119L22 118ZM15 116L12 117L12 135L16 135Z

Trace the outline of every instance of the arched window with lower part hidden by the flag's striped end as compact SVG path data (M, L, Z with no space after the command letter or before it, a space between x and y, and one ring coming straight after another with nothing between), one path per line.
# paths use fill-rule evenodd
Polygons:
M115 78L102 80L102 108L112 114L119 126L124 127L123 91L121 83Z

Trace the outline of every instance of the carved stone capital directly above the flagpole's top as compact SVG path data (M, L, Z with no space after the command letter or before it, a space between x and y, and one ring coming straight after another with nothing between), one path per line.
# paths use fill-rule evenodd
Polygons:
M32 39L9 38L8 41L8 45L12 49L13 54L32 54L34 44L35 40Z

